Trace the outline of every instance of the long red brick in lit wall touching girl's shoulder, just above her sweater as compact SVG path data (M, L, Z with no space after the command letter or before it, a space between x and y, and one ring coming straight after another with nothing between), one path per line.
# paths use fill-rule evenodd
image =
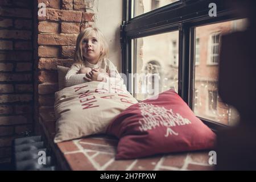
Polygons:
M46 59L40 58L38 63L39 69L49 69L49 70L56 70L57 65L61 65L64 67L71 67L74 63L73 59Z

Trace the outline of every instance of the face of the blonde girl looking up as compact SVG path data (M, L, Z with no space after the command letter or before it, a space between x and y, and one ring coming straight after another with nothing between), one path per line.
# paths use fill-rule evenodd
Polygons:
M91 63L97 64L101 55L101 43L93 31L88 38L82 39L82 56Z

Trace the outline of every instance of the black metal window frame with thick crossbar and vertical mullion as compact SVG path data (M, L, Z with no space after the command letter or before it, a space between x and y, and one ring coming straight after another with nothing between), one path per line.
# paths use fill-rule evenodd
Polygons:
M179 30L178 93L193 110L195 27L245 17L236 15L236 12L228 6L228 0L180 0L131 18L131 1L123 0L124 16L121 28L123 73L127 76L131 73L131 39ZM208 15L209 3L216 3L216 17ZM127 81L131 80L128 78ZM131 90L128 85L127 89ZM200 119L216 131L225 127L205 118Z

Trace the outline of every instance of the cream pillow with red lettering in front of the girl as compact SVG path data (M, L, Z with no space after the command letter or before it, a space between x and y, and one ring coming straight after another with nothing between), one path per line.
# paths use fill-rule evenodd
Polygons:
M90 81L55 93L56 135L62 142L105 133L109 123L138 101L122 86Z

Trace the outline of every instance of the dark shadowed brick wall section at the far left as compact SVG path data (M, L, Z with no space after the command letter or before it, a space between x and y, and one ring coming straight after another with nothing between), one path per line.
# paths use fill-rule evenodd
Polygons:
M32 1L0 1L0 163L11 141L32 131Z

